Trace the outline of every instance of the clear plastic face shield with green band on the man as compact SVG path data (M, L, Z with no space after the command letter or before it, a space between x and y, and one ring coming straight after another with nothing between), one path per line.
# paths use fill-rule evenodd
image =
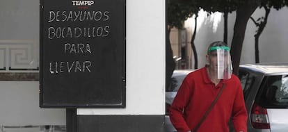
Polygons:
M210 72L215 72L218 79L230 79L232 76L232 63L229 47L210 47L208 55L211 58Z

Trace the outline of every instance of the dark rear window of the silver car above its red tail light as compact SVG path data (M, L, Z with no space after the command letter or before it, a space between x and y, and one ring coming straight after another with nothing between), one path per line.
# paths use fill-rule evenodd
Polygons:
M265 104L266 108L287 108L288 75L267 76L265 80L261 98L266 104L262 104Z

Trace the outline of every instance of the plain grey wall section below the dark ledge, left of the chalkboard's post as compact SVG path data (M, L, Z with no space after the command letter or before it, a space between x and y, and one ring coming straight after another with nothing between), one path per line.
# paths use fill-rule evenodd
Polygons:
M38 81L0 81L1 125L65 125L64 108L39 108Z

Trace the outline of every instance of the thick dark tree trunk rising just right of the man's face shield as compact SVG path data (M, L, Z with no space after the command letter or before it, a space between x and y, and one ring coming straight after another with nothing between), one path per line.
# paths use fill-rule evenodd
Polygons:
M238 74L243 40L248 19L254 13L257 4L247 3L246 5L237 8L236 21L234 24L234 34L231 44L231 59L233 65L233 73Z

